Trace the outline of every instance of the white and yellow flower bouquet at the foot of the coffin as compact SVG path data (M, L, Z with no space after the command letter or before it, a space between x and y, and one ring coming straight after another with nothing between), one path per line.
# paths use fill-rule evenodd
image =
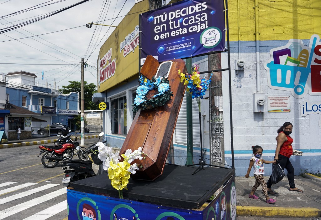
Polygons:
M103 162L103 169L107 171L108 178L111 181L111 186L118 190L120 199L123 199L123 189L127 190L128 180L130 174L135 174L136 170L139 170L136 163L131 164L135 159L145 159L142 148L139 147L137 150L127 150L125 154L122 154L123 161L119 161L121 157L116 153L112 152L112 148L104 145L102 142L96 143L98 146L98 158Z

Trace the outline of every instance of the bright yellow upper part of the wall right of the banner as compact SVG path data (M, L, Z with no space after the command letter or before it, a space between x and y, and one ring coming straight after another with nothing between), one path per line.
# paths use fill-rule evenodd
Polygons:
M237 0L229 0L230 41L238 41ZM258 0L260 40L321 35L321 0ZM239 0L241 41L255 40L254 0Z

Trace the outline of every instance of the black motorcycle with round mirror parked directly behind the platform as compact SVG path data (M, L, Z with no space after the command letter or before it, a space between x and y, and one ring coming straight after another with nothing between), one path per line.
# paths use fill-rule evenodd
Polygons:
M100 138L104 135L103 132L99 134L98 142L100 141ZM104 141L103 143L106 143L107 141ZM91 153L91 159L92 161L99 165L98 173L96 174L95 171L92 169L92 162L91 160L73 160L73 159L63 159L61 169L65 173L65 178L63 178L62 183L64 186L69 187L71 182L85 179L91 176L95 176L98 174L101 174L102 169L102 161L98 158L98 153L94 154L94 152L98 150L98 147L96 144L91 145L85 153L90 154Z

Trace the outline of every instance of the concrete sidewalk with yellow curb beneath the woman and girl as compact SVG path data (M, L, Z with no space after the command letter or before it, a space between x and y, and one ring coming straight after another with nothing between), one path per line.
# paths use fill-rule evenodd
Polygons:
M269 176L265 176L267 182ZM248 198L252 190L255 178L236 177L236 199L238 216L264 216L264 217L293 217L312 218L321 216L321 178L311 174L294 177L295 186L300 192L289 191L289 182L285 176L281 182L272 185L275 195L269 195L276 199L275 204L265 202L262 187L259 186L255 195L258 200Z

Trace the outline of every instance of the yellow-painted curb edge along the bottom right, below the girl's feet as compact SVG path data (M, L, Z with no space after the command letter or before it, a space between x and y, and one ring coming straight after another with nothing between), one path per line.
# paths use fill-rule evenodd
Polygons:
M320 217L321 210L317 208L236 206L236 214L237 216L312 218Z

